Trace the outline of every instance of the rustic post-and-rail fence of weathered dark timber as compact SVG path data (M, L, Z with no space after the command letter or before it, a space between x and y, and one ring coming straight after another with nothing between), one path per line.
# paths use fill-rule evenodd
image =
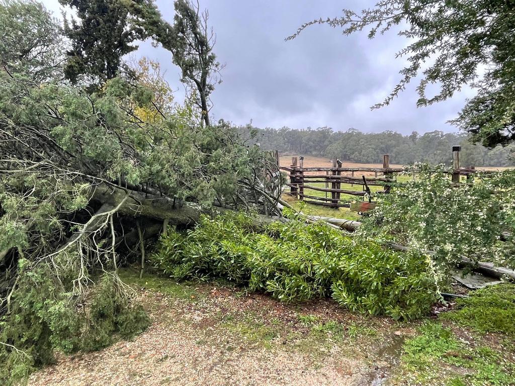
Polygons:
M460 150L460 146L453 146L452 148L454 170L451 174L452 181L455 183L459 183L460 176L467 176L467 180L469 181L476 172L474 167L460 167ZM279 160L279 153L277 151L274 151L274 156L276 160ZM373 203L370 201L370 186L382 186L383 190L375 191L374 193L387 194L391 189L389 183L397 180L396 174L407 170L404 167L390 167L390 156L388 154L383 155L382 168L343 167L342 162L336 157L333 158L332 167L304 167L304 157L293 156L291 157L290 166L279 166L279 169L288 172L289 182L286 183L286 185L290 188L289 194L291 196L314 205L331 208L347 207L351 209L353 209L353 204L342 202L341 195L366 197L368 202L363 201L359 203L358 206L354 205L354 209L357 212L366 212L366 210L373 207ZM360 173L362 174L360 175ZM367 173L367 176L365 173ZM374 177L369 177L372 173ZM323 183L324 187L313 185L319 183ZM342 184L350 185L351 187L361 185L363 189L361 191L345 189L341 187ZM307 194L305 192L306 190L308 191ZM324 192L325 197L310 194L310 190ZM328 197L328 194L330 194L330 197Z

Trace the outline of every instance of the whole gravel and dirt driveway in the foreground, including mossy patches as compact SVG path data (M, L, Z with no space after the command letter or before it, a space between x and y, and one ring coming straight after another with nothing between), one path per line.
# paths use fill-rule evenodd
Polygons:
M355 316L330 302L286 306L267 296L181 286L165 294L143 291L153 323L142 335L99 352L61 356L29 384L382 384L390 364L374 359L371 365L368 353L381 352L371 330L360 331ZM343 319L357 332L336 322ZM391 327L383 322L374 323Z

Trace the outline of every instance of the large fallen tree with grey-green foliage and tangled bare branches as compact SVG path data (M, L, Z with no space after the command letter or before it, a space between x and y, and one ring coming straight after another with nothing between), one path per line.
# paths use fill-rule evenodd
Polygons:
M274 213L265 192L280 189L271 157L223 121L199 125L156 64L91 91L63 81L66 43L40 4L0 3L0 25L0 379L13 382L53 349L144 328L117 270L145 239L214 204Z

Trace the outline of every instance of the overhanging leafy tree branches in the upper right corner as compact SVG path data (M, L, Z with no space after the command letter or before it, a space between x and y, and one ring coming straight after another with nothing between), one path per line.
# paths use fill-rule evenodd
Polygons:
M408 44L397 57L407 57L409 64L392 93L373 108L389 104L417 77L417 106L448 99L469 85L477 94L454 124L485 146L515 141L513 0L382 0L361 12L343 12L305 23L287 40L313 24L341 27L346 35L369 29L369 38L398 26ZM439 85L439 92L428 96L428 84Z

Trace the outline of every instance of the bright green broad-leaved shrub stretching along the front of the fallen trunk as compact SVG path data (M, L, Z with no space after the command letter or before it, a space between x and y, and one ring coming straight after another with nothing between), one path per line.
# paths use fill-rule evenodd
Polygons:
M332 296L358 312L412 319L436 301L427 257L361 244L323 223L260 229L239 214L203 217L185 235L160 240L152 261L176 279L222 277L291 302Z

